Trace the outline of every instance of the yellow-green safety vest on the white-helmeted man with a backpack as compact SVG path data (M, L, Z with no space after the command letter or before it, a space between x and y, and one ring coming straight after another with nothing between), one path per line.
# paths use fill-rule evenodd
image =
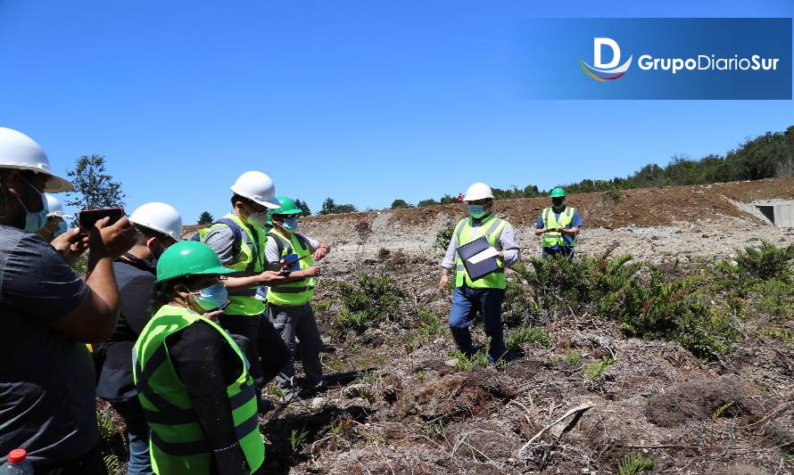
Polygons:
M259 275L265 270L265 243L267 242L267 234L262 229L254 229L251 225L246 225L242 219L233 213L227 214L225 219L231 219L240 227L243 232L243 241L240 242L240 253L236 257L234 264L229 264L226 267L234 269L237 272L228 274L229 277L251 277L252 275ZM213 229L219 227L228 227L224 224L211 225L199 231L199 239L204 242L204 237ZM256 288L242 289L239 291L229 291L229 303L223 313L227 315L246 315L258 316L264 313L265 303L257 299Z

